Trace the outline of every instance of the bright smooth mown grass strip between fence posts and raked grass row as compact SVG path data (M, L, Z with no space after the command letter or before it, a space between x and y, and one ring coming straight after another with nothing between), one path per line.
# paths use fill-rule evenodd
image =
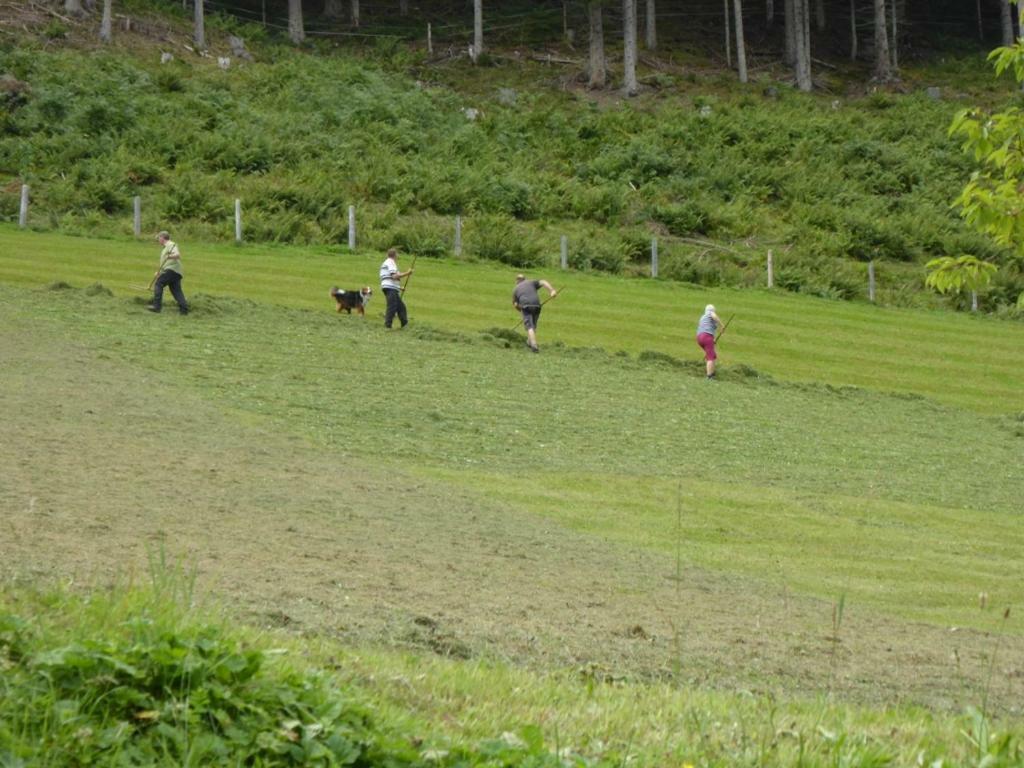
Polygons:
M332 285L376 288L381 254L180 244L186 293L245 297L330 311ZM341 249L339 249L341 250ZM101 283L119 294L148 282L156 246L0 227L0 282ZM410 258L406 257L403 266ZM511 328L514 270L451 259L417 263L408 303L415 323L475 333ZM611 352L653 350L697 359L693 328L706 303L736 315L726 366L777 379L918 394L985 414L1024 408L1024 327L943 311L895 310L768 291L697 289L659 281L548 273L567 289L545 314L542 341ZM381 296L368 322L377 322Z

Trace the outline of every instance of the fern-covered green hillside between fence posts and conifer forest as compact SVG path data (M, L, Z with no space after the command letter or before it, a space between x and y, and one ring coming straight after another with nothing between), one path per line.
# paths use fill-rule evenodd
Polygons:
M139 196L146 230L228 240L241 199L248 240L337 244L352 205L361 243L436 255L462 215L468 253L519 266L556 261L565 234L574 267L642 272L656 237L663 276L760 285L771 249L779 287L854 298L874 260L891 303L934 301L924 259L1004 258L948 207L970 170L950 118L1013 92L979 93L979 60L946 66L952 100L924 93L948 74L908 69L904 94L663 74L624 101L552 89L525 58L477 70L394 44L314 53L256 40L254 61L222 71L174 42L179 20L135 30L102 50L52 26L2 39L0 72L25 86L0 126L4 218L27 182L36 226L130 231ZM211 31L215 50L223 34ZM983 304L1022 290L1010 265Z

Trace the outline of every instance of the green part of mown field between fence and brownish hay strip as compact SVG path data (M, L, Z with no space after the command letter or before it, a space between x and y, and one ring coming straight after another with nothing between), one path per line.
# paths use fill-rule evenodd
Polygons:
M122 297L137 295L125 287L145 282L157 252L9 229L0 243L3 285L99 283ZM1017 599L1018 324L549 273L564 294L545 310L535 360L489 333L515 322L509 269L419 260L411 332L384 338L379 294L366 322L333 316L328 297L333 284L376 285L380 254L182 248L186 292L203 296L190 332L162 341L167 354L144 351L137 323L109 325L122 321L84 307L75 333L97 343L128 335L133 359L167 371L183 360L195 369L186 381L210 397L317 440L365 425L367 452L631 547L673 550L683 478L682 536L709 567L781 567L798 589L939 623L971 624L964 608L979 591ZM253 310L221 317L209 296ZM736 315L718 386L699 376L692 341L706 301ZM422 343L451 335L489 342ZM353 359L357 376L345 373ZM382 393L409 414L396 430L379 413ZM514 450L519 440L530 450ZM525 477L537 487L519 500Z

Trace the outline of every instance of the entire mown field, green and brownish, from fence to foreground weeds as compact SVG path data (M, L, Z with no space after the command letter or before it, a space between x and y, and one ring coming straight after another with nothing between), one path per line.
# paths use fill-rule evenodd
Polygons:
M512 270L420 259L386 333L327 296L379 254L181 245L184 318L127 289L148 241L0 232L8 583L163 547L417 728L647 765L980 760L943 713L1019 715L1019 325L554 273L529 355Z

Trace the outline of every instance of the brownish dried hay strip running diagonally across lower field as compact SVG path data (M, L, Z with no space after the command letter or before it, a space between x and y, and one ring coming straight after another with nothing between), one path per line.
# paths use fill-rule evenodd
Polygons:
M156 350L155 350L156 353ZM0 577L144 578L164 549L247 621L601 679L977 702L991 636L685 569L224 413L0 307ZM678 637L678 645L676 639ZM958 655L959 666L953 660ZM1024 693L1005 639L990 698Z

